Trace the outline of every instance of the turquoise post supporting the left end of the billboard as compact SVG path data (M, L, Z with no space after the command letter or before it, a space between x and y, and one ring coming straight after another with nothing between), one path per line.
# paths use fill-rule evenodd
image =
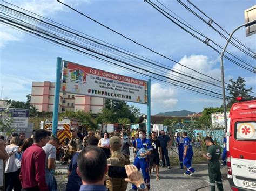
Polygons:
M56 82L55 82L54 104L53 104L53 114L52 114L52 134L54 136L57 136L57 128L58 128L59 91L60 91L61 67L62 67L62 58L57 57Z

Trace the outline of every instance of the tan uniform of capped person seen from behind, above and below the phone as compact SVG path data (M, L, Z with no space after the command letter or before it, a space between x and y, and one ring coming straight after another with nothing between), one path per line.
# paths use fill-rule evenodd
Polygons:
M121 166L130 164L129 155L122 154L120 150L114 151L111 154L111 157L107 159L107 164L111 166ZM112 178L111 180L106 181L106 187L111 191L125 191L127 188L128 182L121 178Z

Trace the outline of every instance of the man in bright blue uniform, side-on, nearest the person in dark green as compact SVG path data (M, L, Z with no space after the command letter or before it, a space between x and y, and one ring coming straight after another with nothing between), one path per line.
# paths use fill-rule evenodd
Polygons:
M183 164L187 168L187 171L184 173L185 175L193 175L196 172L194 168L192 168L192 157L193 157L193 149L192 149L192 141L187 136L187 132L183 132L184 137L184 152L183 152Z

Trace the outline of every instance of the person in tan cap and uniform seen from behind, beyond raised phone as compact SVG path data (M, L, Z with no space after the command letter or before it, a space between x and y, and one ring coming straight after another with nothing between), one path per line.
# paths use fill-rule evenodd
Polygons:
M110 151L111 156L107 159L107 164L111 166L124 167L130 164L129 155L121 153L121 139L117 136L110 138ZM112 178L106 181L106 187L111 191L126 190L128 182L123 178Z

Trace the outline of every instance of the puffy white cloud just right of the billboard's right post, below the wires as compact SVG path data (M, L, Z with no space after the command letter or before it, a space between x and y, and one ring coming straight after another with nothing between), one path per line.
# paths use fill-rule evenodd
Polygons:
M175 98L176 91L170 87L162 87L159 83L151 85L151 107L152 112L157 110L164 112L170 110L178 103L178 99Z

